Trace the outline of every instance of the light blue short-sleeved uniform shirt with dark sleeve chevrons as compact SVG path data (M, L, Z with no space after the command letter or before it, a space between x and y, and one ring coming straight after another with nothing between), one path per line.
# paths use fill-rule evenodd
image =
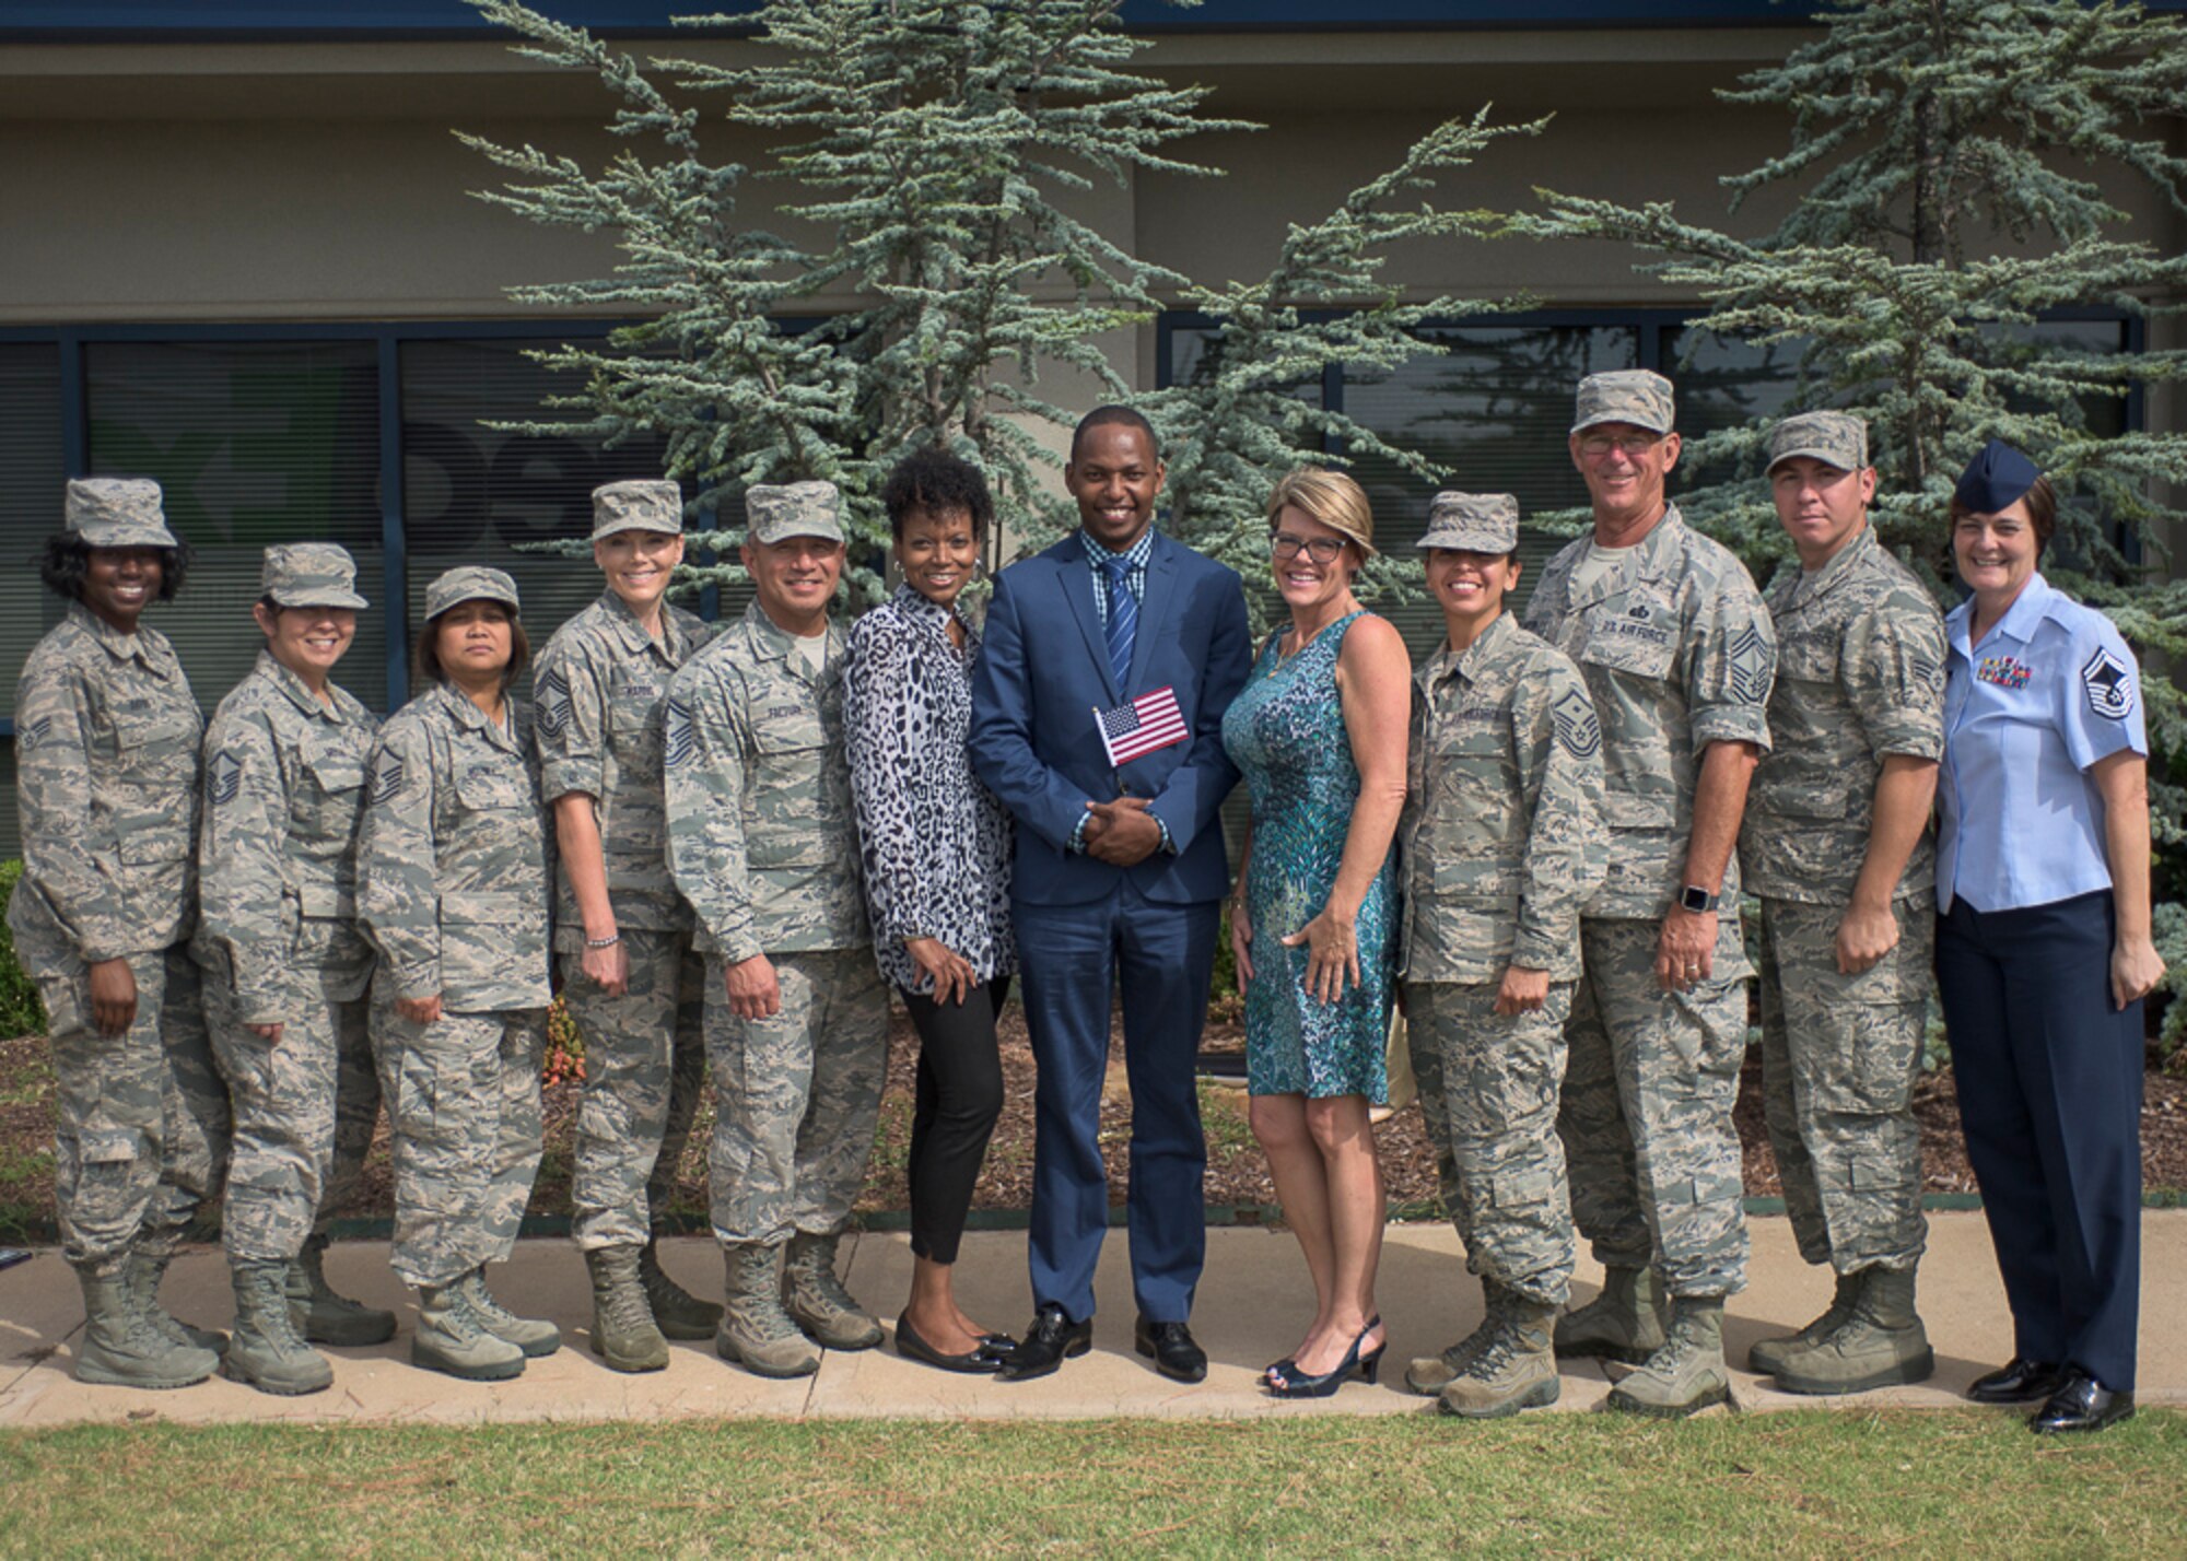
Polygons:
M1944 619L1944 767L1935 901L1979 912L2110 888L2104 798L2086 770L2148 756L2141 673L2119 630L2034 575L1981 645L1973 599Z

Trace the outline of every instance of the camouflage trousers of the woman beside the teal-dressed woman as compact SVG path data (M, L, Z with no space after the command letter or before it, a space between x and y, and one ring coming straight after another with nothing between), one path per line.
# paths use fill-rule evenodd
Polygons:
M1557 1139L1570 1010L1570 982L1551 982L1531 1014L1498 1014L1494 984L1404 986L1419 1115L1465 1268L1557 1307L1572 1281L1572 1198Z

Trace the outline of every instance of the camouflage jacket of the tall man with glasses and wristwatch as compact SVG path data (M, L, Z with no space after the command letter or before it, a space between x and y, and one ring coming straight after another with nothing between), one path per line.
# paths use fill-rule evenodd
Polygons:
M1656 920L1684 881L1701 750L1769 748L1776 634L1745 566L1677 505L1581 590L1572 568L1586 551L1579 538L1548 562L1527 627L1579 662L1603 724L1610 877L1581 914ZM1719 892L1739 894L1736 855Z

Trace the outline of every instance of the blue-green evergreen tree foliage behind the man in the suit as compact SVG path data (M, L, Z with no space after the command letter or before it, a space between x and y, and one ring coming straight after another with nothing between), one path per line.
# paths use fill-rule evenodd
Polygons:
M1069 208L1137 175L1220 177L1177 144L1258 129L1207 114L1205 87L1135 72L1144 44L1118 26L1120 0L776 0L748 17L680 20L748 31L761 63L744 66L641 61L518 0L472 4L523 39L521 55L597 77L623 142L590 168L461 136L505 175L481 199L604 232L619 249L606 278L512 297L641 321L538 354L584 389L551 402L560 420L512 426L663 437L667 470L720 516L720 529L693 533L700 547L733 558L730 512L750 483L820 477L844 492L853 599L873 601L886 564L879 488L923 444L978 461L997 531L1037 542L1067 523L1052 435L1074 411L1043 389L1059 372L1076 400L1094 385L1148 413L1170 463L1170 531L1255 577L1260 503L1286 470L1376 453L1441 477L1295 387L1330 363L1432 352L1413 326L1489 308L1404 302L1387 254L1489 236L1500 219L1441 210L1437 188L1496 138L1540 125L1492 127L1485 109L1439 125L1334 212L1293 225L1266 278L1205 286ZM720 160L715 140L755 166ZM744 206L787 232L748 221ZM822 300L842 297L857 306L822 315ZM1166 300L1214 319L1220 369L1131 396L1102 337L1146 324ZM1345 313L1312 317L1330 310ZM704 564L680 584L739 575Z

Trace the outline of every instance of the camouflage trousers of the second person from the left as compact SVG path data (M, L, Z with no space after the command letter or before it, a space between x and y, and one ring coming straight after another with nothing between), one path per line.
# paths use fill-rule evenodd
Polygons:
M206 971L212 1063L236 1119L221 1209L230 1257L293 1259L356 1189L381 1119L367 1010L363 997L321 995L265 1041L236 1019L227 973Z

